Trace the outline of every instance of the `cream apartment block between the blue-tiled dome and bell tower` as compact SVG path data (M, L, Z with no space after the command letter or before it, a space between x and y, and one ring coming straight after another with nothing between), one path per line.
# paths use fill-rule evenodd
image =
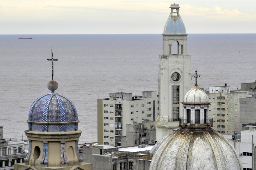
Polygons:
M97 100L98 144L121 146L126 136L126 124L154 121L158 116L158 95L143 91L142 96L132 93L109 93L106 99Z

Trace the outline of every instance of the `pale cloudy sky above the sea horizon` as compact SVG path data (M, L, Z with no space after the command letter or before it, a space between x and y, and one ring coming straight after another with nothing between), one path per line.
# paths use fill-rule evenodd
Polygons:
M161 34L174 0L0 0L0 34ZM255 0L176 0L188 34L256 33Z

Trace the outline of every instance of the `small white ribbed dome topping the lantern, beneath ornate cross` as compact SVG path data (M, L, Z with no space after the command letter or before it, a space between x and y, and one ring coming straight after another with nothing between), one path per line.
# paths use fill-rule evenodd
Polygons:
M185 97L183 104L209 104L207 94L200 89L197 85L194 86L191 90L189 90Z

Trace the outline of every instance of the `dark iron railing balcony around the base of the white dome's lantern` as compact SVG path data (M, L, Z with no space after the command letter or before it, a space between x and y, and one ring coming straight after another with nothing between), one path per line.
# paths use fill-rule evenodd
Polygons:
M209 119L196 119L196 120L188 120L188 119L179 119L179 127L182 128L210 128L212 126L212 118Z

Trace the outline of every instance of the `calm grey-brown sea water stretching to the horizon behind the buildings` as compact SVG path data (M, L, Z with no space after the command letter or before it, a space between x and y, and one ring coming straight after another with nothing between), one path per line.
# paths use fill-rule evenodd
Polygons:
M19 37L33 37L20 40ZM254 82L256 34L189 34L187 53L198 84ZM161 34L0 35L0 126L4 137L21 138L34 100L50 92L51 47L57 93L73 101L79 116L80 141L97 141L97 99L110 92L158 90ZM194 80L192 80L194 82Z

